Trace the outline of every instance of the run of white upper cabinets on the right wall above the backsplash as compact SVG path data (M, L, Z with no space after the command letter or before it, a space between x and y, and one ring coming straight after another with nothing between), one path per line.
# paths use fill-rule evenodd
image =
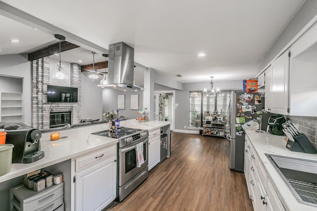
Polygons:
M300 32L265 70L265 110L317 116L317 22Z

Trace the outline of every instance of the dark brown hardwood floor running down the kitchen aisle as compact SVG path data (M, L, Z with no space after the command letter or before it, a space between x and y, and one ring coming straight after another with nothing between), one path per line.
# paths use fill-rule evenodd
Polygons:
M243 173L228 166L229 142L172 133L171 156L108 211L252 211Z

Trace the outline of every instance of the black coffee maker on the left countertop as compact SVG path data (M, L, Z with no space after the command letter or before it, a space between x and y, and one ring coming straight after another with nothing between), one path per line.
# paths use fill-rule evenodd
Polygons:
M6 144L13 144L12 163L29 164L44 158L44 151L40 151L39 129L6 130Z

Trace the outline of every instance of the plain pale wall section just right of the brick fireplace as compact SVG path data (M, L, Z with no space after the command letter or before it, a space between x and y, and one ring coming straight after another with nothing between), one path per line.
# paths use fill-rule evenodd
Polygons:
M91 79L81 74L81 119L103 118L103 92Z

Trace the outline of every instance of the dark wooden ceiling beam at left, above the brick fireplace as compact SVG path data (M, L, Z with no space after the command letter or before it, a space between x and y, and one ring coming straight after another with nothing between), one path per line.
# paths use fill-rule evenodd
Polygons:
M79 47L79 46L67 41L60 42L60 52L74 49L76 47ZM51 44L39 50L33 51L31 53L28 53L28 61L33 61L36 59L44 58L46 56L51 56L58 52L59 52L59 42Z

